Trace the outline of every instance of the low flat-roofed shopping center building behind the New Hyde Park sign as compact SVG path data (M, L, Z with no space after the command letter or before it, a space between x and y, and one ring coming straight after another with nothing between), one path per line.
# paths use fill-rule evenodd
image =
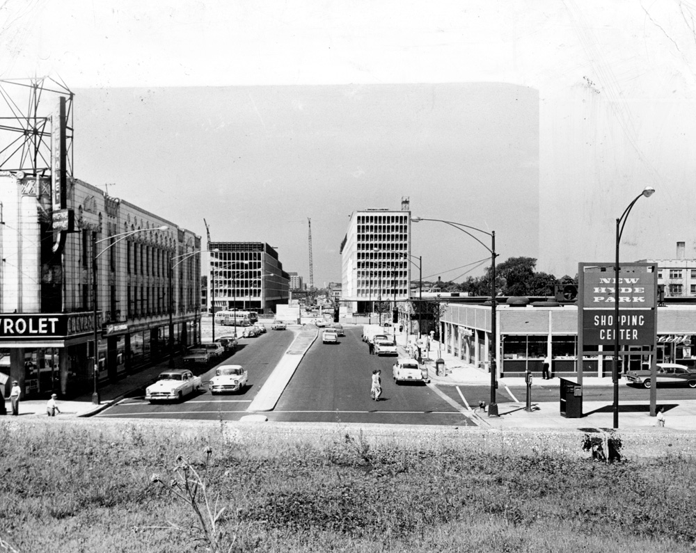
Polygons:
M544 303L544 302L541 302ZM553 373L578 376L577 305L496 306L496 366L498 376L523 376L529 370L541 376L546 356ZM696 302L658 306L656 362L696 366ZM443 347L466 363L490 367L491 307L448 304L440 319ZM628 348L624 371L647 362L642 346ZM611 378L613 348L597 348L596 355L583 356L583 374Z

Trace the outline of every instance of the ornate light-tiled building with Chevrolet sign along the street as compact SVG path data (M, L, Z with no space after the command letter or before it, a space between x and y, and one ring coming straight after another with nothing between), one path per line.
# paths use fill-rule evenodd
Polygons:
M24 392L76 394L161 360L170 308L175 346L198 342L196 234L72 178L0 173L0 207L0 371Z

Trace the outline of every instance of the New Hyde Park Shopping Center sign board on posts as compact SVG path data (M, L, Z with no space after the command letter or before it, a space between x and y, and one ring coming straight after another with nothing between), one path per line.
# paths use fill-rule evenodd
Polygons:
M657 265L580 263L578 266L578 344L596 355L597 346L612 351L616 342L615 310L619 302L619 350L649 346L657 330ZM609 348L608 346L611 346Z

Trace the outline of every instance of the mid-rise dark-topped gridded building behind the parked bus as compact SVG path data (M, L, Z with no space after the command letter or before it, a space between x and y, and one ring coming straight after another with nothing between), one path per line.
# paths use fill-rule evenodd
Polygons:
M214 310L274 313L290 298L290 275L263 242L210 242L209 296Z

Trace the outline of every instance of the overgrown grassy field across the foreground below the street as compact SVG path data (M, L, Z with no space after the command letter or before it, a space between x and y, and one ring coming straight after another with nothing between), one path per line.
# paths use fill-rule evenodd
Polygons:
M0 428L0 551L654 553L696 542L693 450L608 464L590 460L577 431ZM206 498L224 508L214 530Z

